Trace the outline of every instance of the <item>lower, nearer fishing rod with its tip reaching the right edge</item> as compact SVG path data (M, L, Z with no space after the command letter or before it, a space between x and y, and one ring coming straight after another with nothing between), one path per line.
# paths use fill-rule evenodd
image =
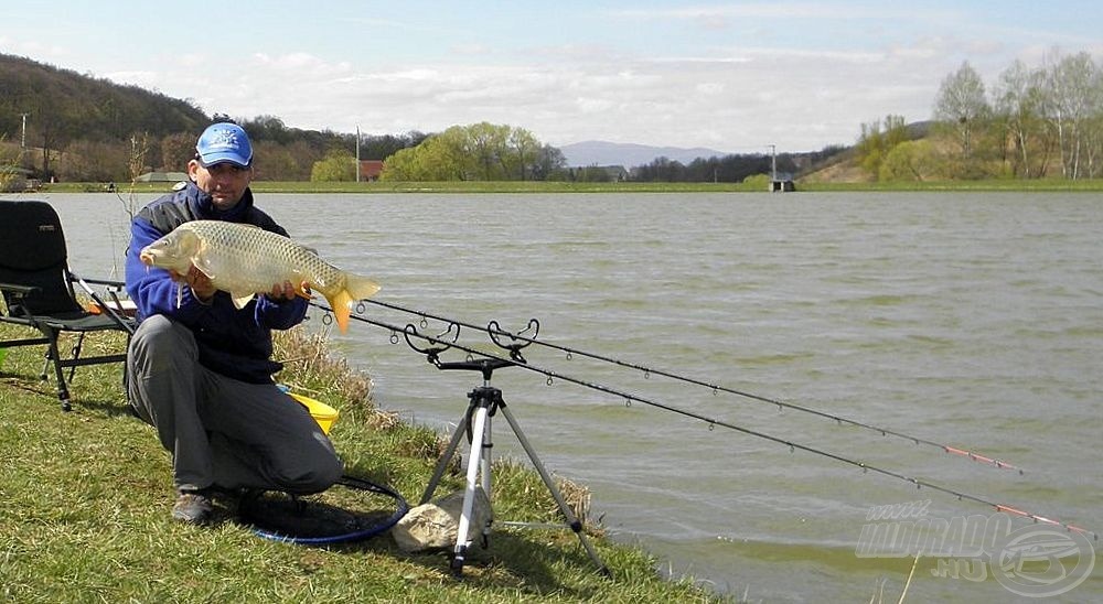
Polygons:
M364 301L362 301L362 302L364 302ZM310 302L310 305L312 305L314 308L318 308L318 309L320 309L320 310L322 310L323 312L326 313L322 317L322 322L323 323L330 324L330 323L333 322L332 310L330 308L328 308L325 305L322 305L322 304L319 304L319 303L315 303L315 302ZM383 305L387 305L387 304L383 304ZM440 355L443 354L445 352L449 350L449 349L453 349L454 348L457 350L462 350L462 352L467 353L470 358L473 358L474 356L478 355L478 356L481 356L483 358L488 358L488 359L492 359L492 360L496 360L499 363L502 363L503 366L520 367L520 368L526 369L528 371L540 374L540 375L543 375L543 376L545 376L547 378L547 384L549 386L553 385L554 381L557 380L557 379L561 380L561 381L566 381L568 384L575 384L576 386L581 386L581 387L589 388L589 389L592 389L592 390L596 390L596 391L599 391L599 392L603 392L603 393L607 393L607 395L610 395L610 396L613 396L613 397L622 398L622 399L624 399L628 402L628 405L631 405L632 402L640 402L640 403L643 403L643 405L647 405L650 407L654 407L654 408L657 408L657 409L663 409L663 410L670 411L672 413L676 413L676 414L679 414L679 416L683 416L683 417L686 417L686 418L690 418L690 419L694 419L694 420L702 421L702 422L708 424L709 430L714 430L716 427L725 428L725 429L732 430L732 431L736 431L736 432L739 432L739 433L742 433L742 434L747 434L747 435L750 435L750 436L756 436L756 438L763 439L763 440L767 440L767 441L770 441L770 442L773 442L773 443L777 443L777 444L785 445L785 446L789 447L790 452L803 451L803 452L806 452L806 453L812 453L814 455L820 455L820 456L823 456L823 457L826 457L826 459L829 459L829 460L834 460L834 461L839 462L839 463L844 463L844 464L857 467L857 468L861 470L864 474L865 473L869 473L869 472L874 472L874 473L880 474L882 476L887 476L887 477L890 477L890 478L895 478L895 479L902 481L902 482L906 482L908 484L914 485L915 488L929 488L929 489L932 489L932 490L935 490L935 492L939 492L939 493L943 493L945 495L950 495L950 496L956 497L957 500L960 500L960 501L961 500L973 501L973 503L976 503L976 504L981 504L981 505L994 508L997 513L1011 514L1011 515L1019 516L1019 517L1022 517L1025 519L1031 520L1034 522L1060 527L1060 528L1063 528L1063 529L1065 529L1067 531L1070 531L1070 532L1078 532L1080 535L1084 535L1086 537L1091 537L1095 541L1099 540L1099 533L1095 532L1095 531L1093 531L1093 530L1089 530L1089 529L1085 529L1085 528L1082 528L1082 527L1079 527L1079 526L1075 526L1075 525L1070 525L1068 522L1063 522L1061 520L1057 520L1057 519L1053 519L1053 518L1049 518L1049 517L1046 517L1046 516L1041 516L1041 515L1038 515L1038 514L1026 511L1026 510L1022 510L1022 509L1019 509L1019 508L1016 508L1016 507L1004 505L1004 504L1000 504L998 501L994 501L994 500L988 499L988 498L983 497L983 496L972 495L972 494L965 493L963 490L957 490L955 488L951 488L951 487L947 487L947 486L942 486L940 484L932 483L930 481L925 481L923 478L919 478L919 477L915 477L915 476L909 476L909 475L902 474L902 473L893 471L893 470L881 467L879 465L871 465L871 464L861 462L859 460L856 460L856 459L853 459L853 457L849 457L849 456L846 456L846 455L843 455L843 454L833 453L831 451L827 451L827 450L824 450L824 449L820 449L820 447L816 447L816 446L801 444L799 442L791 441L791 440L788 440L788 439L784 439L784 438L781 438L781 436L775 436L773 434L769 434L769 433L762 432L760 430L754 430L754 429L747 428L747 427L743 427L743 425L738 425L736 423L731 423L731 422L726 421L726 420L717 419L717 418L714 418L714 417L708 417L708 416L705 416L703 413L697 413L695 411L689 411L689 410L682 409L682 408L678 408L678 407L674 407L674 406L671 406L671 405L667 405L667 403L664 403L664 402L660 402L660 401L654 400L652 398L643 397L643 396L631 393L631 392L625 392L625 391L617 389L617 388L612 388L612 387L604 386L604 385L601 385L601 384L597 384L597 382L592 382L592 381L589 381L589 380L576 378L576 377L572 377L572 376L567 376L567 375L560 374L558 371L555 371L553 369L548 369L548 368L539 367L539 366L536 366L536 365L532 365L532 364L528 363L527 359L524 358L524 356L521 353L521 350L523 348L532 345L532 344L537 343L537 342L535 339L532 341L532 342L527 342L528 338L526 338L524 336L521 336L520 334L514 334L514 333L511 333L511 332L504 332L504 331L497 330L496 332L494 332L494 335L491 337L491 339L495 344L497 344L502 348L507 349L510 352L508 358L506 358L506 357L494 355L494 354L491 354L491 353L488 353L488 352L484 352L484 350L480 350L478 348L473 348L473 347L464 345L464 344L460 344L460 342L459 342L460 330L461 330L461 327L465 326L465 324L463 324L463 323L459 323L459 322L454 322L454 321L448 322L448 328L443 333L433 336L433 335L424 334L424 333L419 332L418 328L414 324L411 324L411 323L406 324L406 326L404 326L404 327L399 327L398 325L395 325L393 323L387 323L387 322L384 322L384 321L378 321L378 320L375 320L375 319L370 319L370 317L363 316L361 314L361 312L362 312L361 309L362 308L363 306L357 308L356 312L350 315L350 319L353 320L353 321L357 321L357 322L361 322L361 323L365 323L365 324L368 324L368 325L373 325L373 326L381 327L383 330L389 331L390 332L390 342L392 342L392 344L397 344L399 342L399 339L400 339L398 334L401 334L401 337L406 339L406 343L407 343L407 345L409 345L410 348L413 348L414 350L416 350L418 353L421 353L421 354L426 355L427 360L429 363L433 364L435 366L438 366L438 367L440 367L440 364L441 364L441 362L439 359ZM405 310L405 309L399 309L399 310ZM421 314L421 313L416 313L416 314L419 314L419 315L421 315L424 317L427 317L427 319L437 320L437 317L435 317L432 315L429 315L429 314ZM535 320L533 320L533 322L535 322ZM529 328L534 328L533 322L531 322L529 323L529 327L526 327L526 330L524 330L524 331L528 331ZM492 322L492 324L494 324L494 323ZM475 330L480 331L480 332L488 331L488 330L480 328L480 327L475 327ZM450 337L446 338L446 336L450 336ZM502 344L500 344L500 341L499 341L499 338L496 336L507 336L507 337L511 337L514 343L503 346ZM417 345L414 344L414 342L413 342L411 338L418 338L418 339L425 341L425 342L427 342L429 344L429 347L417 346ZM517 341L520 341L522 343L517 344L516 343Z

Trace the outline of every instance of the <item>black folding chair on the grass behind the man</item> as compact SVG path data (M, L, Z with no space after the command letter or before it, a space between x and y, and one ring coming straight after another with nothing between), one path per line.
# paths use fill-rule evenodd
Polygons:
M92 299L90 308L77 300L74 284L79 285ZM109 288L111 302L104 299L89 284ZM103 279L81 279L68 270L65 236L57 213L45 202L0 201L0 292L7 314L0 322L38 330L40 337L0 341L0 347L47 345L41 378L53 362L57 380L57 398L62 410L72 409L65 368L73 379L76 367L100 363L120 363L126 353L81 357L84 336L90 332L122 331L129 343L133 333L132 319L117 310L122 302L116 292L122 282ZM57 339L62 333L76 334L69 358L62 358Z

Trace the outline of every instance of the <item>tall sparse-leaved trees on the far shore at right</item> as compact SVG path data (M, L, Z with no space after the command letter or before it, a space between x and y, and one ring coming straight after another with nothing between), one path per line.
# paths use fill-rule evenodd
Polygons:
M859 165L881 181L1103 176L1103 68L1086 52L1015 61L990 86L966 61L932 114L922 138L901 116L863 125Z

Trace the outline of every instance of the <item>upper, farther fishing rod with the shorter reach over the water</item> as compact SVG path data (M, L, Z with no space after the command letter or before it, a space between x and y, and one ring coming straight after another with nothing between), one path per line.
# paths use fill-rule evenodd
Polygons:
M378 300L362 300L360 302L361 303L365 303L366 302L366 303L370 303L370 304L375 304L377 306L383 306L385 309L390 309L390 310L394 310L394 311L399 311L399 312L405 312L405 313L408 313L408 314L414 314L414 315L420 316L422 319L432 319L433 321L445 322L445 323L448 323L450 325L463 326L463 327L467 327L467 328L470 328L470 330L475 330L475 331L484 331L488 334L490 334L490 337L492 339L494 339L494 343L497 344L499 346L502 346L502 344L499 341L499 337L508 337L508 338L511 338L511 342L513 342L513 343L521 342L521 343L523 343L526 346L529 345L529 344L536 344L536 345L539 345L539 346L544 346L546 348L552 348L552 349L565 353L567 355L567 360L570 360L571 357L574 357L574 356L587 357L587 358L591 358L593 360L600 360L602 363L609 363L611 365L615 365L615 366L619 366L619 367L624 367L624 368L628 368L628 369L634 369L636 371L641 371L641 373L643 373L644 377L661 376L661 377L665 377L665 378L670 378L670 379L674 379L674 380L681 381L683 384L689 384L689 385L693 385L693 386L700 386L700 387L704 387L704 388L708 388L709 390L713 391L714 395L717 393L717 392L726 392L726 393L729 393L729 395L736 395L736 396L739 396L739 397L743 397L746 399L753 400L753 401L757 401L757 402L767 403L767 405L777 407L779 410L781 410L781 409L790 409L790 410L793 410L793 411L800 411L802 413L810 413L810 414L813 414L813 416L816 416L816 417L820 417L820 418L824 418L824 419L834 421L838 425L846 424L846 425L852 425L852 427L859 428L859 429L863 429L863 430L868 430L868 431L871 431L871 432L877 432L877 433L879 433L882 436L896 436L898 439L903 439L903 440L907 440L907 441L911 441L912 443L914 443L917 445L932 446L932 447L941 450L943 453L949 453L951 455L957 455L957 456L961 456L961 457L965 457L965 459L967 459L970 461L982 463L982 464L985 464L985 465L989 465L992 467L996 467L996 468L1000 468L1000 470L1013 470L1013 471L1018 472L1019 474L1025 474L1025 471L1021 467L1019 467L1019 466L1009 464L1009 463L1007 463L1007 462L1005 462L1003 460L997 460L995 457L989 457L989 456L986 456L986 455L982 455L982 454L979 454L979 453L977 453L975 451L971 451L968 449L962 449L962 447L953 446L953 445L950 445L950 444L945 444L945 443L932 441L930 439L925 439L925 438L922 438L922 436L917 436L917 435L913 435L913 434L908 434L908 433L901 432L899 430L893 430L893 429L890 429L890 428L884 428L884 427L880 427L880 425L874 425L871 423L867 423L867 422L864 422L864 421L860 421L860 420L855 420L855 419L847 418L847 417L844 417L844 416L839 416L839 414L836 414L836 413L829 413L827 411L821 411L818 409L813 409L811 407L805 407L803 405L797 405L797 403L793 403L793 402L785 402L785 401L782 401L782 400L779 400L779 399L775 399L775 398L764 397L762 395L756 395L753 392L748 392L746 390L739 390L739 389L736 389L736 388L730 388L728 386L722 386L722 385L719 385L719 384L710 384L710 382L707 382L707 381L702 380L702 379L697 379L697 378L694 378L694 377L675 374L673 371L668 371L668 370L665 370L665 369L656 369L656 368L653 368L653 367L646 367L644 365L639 365L639 364L635 364L635 363L630 363L630 362L627 362L627 360L621 360L621 359L612 358L612 357L600 355L600 354L596 354L596 353L580 350L578 348L572 348L572 347L569 347L569 346L564 346L564 345L555 344L555 343L552 343L552 342L545 342L543 339L536 339L536 336L539 333L539 322L536 321L535 319L529 320L528 327L526 327L525 330L522 330L520 333L511 333L511 332L503 331L501 328L501 326L497 324L496 321L491 321L485 327L481 327L481 326L478 326L478 325L472 325L472 324L469 324L469 323L464 323L462 321L456 321L456 320L452 320L452 319L448 319L448 317L443 317L443 316L439 316L439 315L433 315L433 314L425 312L425 311L419 311L419 310L414 310L414 309L407 309L405 306L399 306L398 304L393 304L393 303L388 303L388 302L382 302L382 301L378 301ZM357 310L357 312L362 313L363 311L362 310ZM526 331L533 331L533 334L526 336L526 335L524 335L524 333ZM503 347L507 347L507 346L503 346Z

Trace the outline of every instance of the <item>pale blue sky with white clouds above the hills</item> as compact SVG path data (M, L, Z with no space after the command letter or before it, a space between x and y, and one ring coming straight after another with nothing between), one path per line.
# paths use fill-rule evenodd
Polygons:
M156 7L156 8L154 8ZM478 121L544 142L745 152L928 119L968 61L1089 52L1103 2L24 0L0 52L190 99L208 114L365 133Z

